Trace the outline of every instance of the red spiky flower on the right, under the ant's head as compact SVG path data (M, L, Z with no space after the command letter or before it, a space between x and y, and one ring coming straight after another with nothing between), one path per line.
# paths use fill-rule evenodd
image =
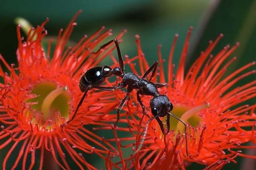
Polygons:
M166 94L173 103L174 110L172 113L189 124L188 134L186 134L189 156L186 156L183 124L171 118L169 123L172 131L163 135L157 121L153 120L148 125L142 149L127 158L121 154L120 162L116 163L121 163L121 167L118 168L185 169L189 162L197 162L207 165L206 169L220 169L226 163L236 163L234 158L238 155L256 158L255 156L244 155L239 151L242 148L256 148L255 146L242 145L248 141L255 143L254 111L256 105L249 106L245 105L244 102L255 99L256 81L240 87L236 86L238 81L255 75L255 70L248 70L255 65L255 62L224 76L228 66L236 60L236 57L232 59L228 59L228 57L239 44L237 43L231 48L227 45L216 56L211 55L212 50L223 37L221 34L214 42L210 41L206 50L201 53L185 74L185 59L191 30L192 28L188 31L176 74L173 71L175 65L172 63L178 38L178 35L175 36L169 55L167 79L164 77L160 46L158 48L160 82L167 82L168 84L167 87L160 88L159 91L161 94ZM136 42L140 74L143 75L148 68L148 63L142 53L138 36ZM126 59L127 63L130 63L132 71L138 74L134 64L130 62L130 59ZM156 77L153 82L157 82ZM120 98L122 97L120 96ZM150 105L150 99L150 96L142 97L145 106ZM134 144L133 150L135 151L142 139L143 135L141 134L145 129L148 117L142 115L142 109L137 103L136 92L134 92L131 94L131 99L127 102L126 107L123 107L126 113L122 114L123 118L120 120L120 122L129 124L129 128L119 127L117 129L131 133L132 137L118 137L114 129L115 140L120 148L120 153L121 147L130 148ZM152 115L151 113L148 114ZM122 141L125 143L130 141L130 144L121 145ZM131 141L135 143L131 143ZM110 162L110 159L108 161Z

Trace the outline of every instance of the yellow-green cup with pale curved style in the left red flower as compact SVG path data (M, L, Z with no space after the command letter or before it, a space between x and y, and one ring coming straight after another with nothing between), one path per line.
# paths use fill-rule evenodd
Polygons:
M39 83L32 90L36 97L28 100L27 103L33 103L31 105L32 109L41 113L42 123L49 119L55 122L57 112L61 117L68 118L70 96L67 90L67 86L57 87L56 84L51 82Z

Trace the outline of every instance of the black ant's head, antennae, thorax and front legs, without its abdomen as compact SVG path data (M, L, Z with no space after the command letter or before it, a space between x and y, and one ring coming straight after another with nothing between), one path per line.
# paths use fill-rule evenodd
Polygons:
M117 44L117 48L119 49L118 44ZM135 154L137 152L139 152L139 150L141 149L141 147L143 145L143 142L145 140L145 136L146 136L146 133L147 133L148 124L153 119L156 119L160 128L161 128L162 133L164 135L166 135L170 130L170 125L169 125L170 116L173 116L176 119L178 119L182 124L185 125L186 155L188 156L187 137L186 137L187 124L183 120L181 120L179 117L170 113L170 111L173 110L172 103L170 103L167 95L160 94L158 92L157 88L164 87L164 86L166 86L166 84L151 82L151 79L154 77L154 75L156 73L158 61L156 61L154 64L152 64L152 66L146 70L144 75L141 78L139 78L137 75L133 74L132 72L124 73L123 59L122 59L121 53L118 53L118 59L119 59L120 69L118 67L115 67L114 75L116 75L118 77L121 77L122 82L119 83L118 86L115 87L115 89L120 89L120 88L123 88L123 87L127 86L127 93L126 93L125 97L123 98L123 100L121 101L119 107L117 108L117 120L115 122L115 127L116 127L116 124L119 121L119 112L120 112L122 106L124 105L125 101L129 98L130 93L134 89L138 89L138 91L137 91L137 100L138 100L140 106L142 107L143 114L145 114L145 106L143 105L143 103L140 99L140 94L153 96L153 98L150 101L150 108L151 108L151 112L153 114L153 117L150 118L149 120L147 120L147 122L146 122L145 130L143 132L143 135L142 135L142 138L141 138L141 141L140 141L140 145L139 145L138 149L135 151ZM151 77L147 81L145 78L148 76L148 74L150 74L151 71L152 71ZM165 128L163 126L163 122L159 118L159 117L164 117L166 115L167 115L167 118L166 118L167 131L165 130Z

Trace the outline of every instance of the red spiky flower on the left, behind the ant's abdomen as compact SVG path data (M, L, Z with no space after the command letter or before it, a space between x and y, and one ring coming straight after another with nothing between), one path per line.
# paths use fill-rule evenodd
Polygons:
M113 93L89 91L77 117L63 132L60 130L61 125L71 118L81 98L78 82L82 73L97 65L115 48L113 45L110 50L92 53L98 44L112 35L111 30L102 33L103 27L91 37L84 36L74 47L66 48L78 13L65 31L59 31L52 57L52 40L49 41L47 52L41 44L47 35L44 26L48 19L36 29L32 28L25 41L20 35L21 26L17 27L17 68L14 64L9 65L1 56L10 73L4 72L1 67L0 76L4 83L0 84L0 150L11 147L5 155L3 169L14 169L20 162L23 169L32 169L36 152L40 155L39 169L43 165L45 168L53 166L53 162L62 169L71 169L66 156L80 169L96 169L81 153L95 153L102 159L106 159L104 155L108 153L116 153L109 142L92 133L87 126L83 127L89 124L106 125L99 122L103 116L111 119L106 113L116 107L116 102L112 100L115 97ZM16 159L10 160L10 155L15 151L18 151ZM31 159L29 168L26 167L28 159Z

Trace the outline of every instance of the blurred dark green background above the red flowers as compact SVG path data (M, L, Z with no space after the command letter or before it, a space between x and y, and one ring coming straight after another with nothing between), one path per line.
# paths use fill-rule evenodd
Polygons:
M14 18L24 17L36 26L49 17L50 21L46 25L48 35L56 36L60 28L66 28L79 9L82 9L82 13L77 19L78 26L71 36L74 42L84 34L91 35L101 26L112 28L114 36L127 29L128 32L123 36L120 45L122 54L131 57L137 54L134 36L139 34L142 50L148 62L153 63L158 60L157 45L162 44L162 57L167 59L174 35L178 33L179 39L174 54L174 62L178 63L186 32L190 26L193 26L187 67L207 47L208 41L214 40L220 33L224 34L224 38L217 45L214 54L228 43L232 45L239 41L241 44L232 55L237 56L238 59L228 70L229 72L256 59L256 1L253 0L77 0L72 2L2 0L0 53L9 63L16 62L17 38ZM245 81L252 79L255 80L255 77ZM0 158L2 156L0 153ZM243 161L239 158L238 165L231 163L225 166L225 169L241 169L241 163ZM193 164L188 169L203 167Z

